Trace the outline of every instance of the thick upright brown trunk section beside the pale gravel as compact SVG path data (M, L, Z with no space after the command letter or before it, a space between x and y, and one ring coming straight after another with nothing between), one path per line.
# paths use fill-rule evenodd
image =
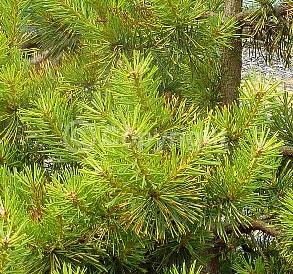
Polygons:
M236 16L241 12L242 0L225 0L224 17ZM241 35L242 29L237 31ZM241 81L242 44L241 39L231 39L232 50L225 48L223 51L222 75L220 93L223 104L231 104L239 98L238 87Z

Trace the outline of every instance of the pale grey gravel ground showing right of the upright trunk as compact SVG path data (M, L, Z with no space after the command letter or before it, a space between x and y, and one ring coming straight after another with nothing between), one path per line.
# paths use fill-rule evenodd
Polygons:
M253 69L256 72L261 71L267 77L273 76L274 79L283 81L281 87L285 87L286 90L293 90L293 61L288 68L285 67L282 60L274 56L272 64L266 64L260 53L252 53L252 50L244 48L242 53L242 77L247 73L252 74Z

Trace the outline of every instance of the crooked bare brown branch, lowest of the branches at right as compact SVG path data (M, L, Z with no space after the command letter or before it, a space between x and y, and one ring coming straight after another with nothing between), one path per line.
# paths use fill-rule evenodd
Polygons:
M272 237L277 237L283 234L281 230L272 228L268 224L266 224L264 221L259 221L259 220L253 221L249 227L239 226L238 229L241 233L249 233L251 231L260 230L263 233L270 235ZM225 230L228 234L234 231L232 226L227 226Z

